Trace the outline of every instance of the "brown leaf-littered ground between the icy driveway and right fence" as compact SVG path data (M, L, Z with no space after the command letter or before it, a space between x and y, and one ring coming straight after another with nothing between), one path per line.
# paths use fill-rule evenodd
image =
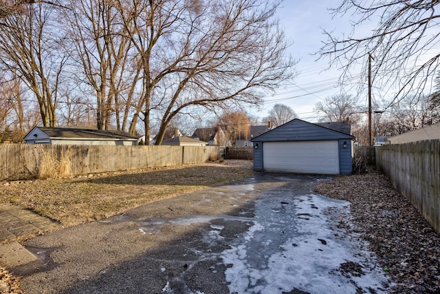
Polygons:
M347 229L369 242L395 283L390 293L440 293L440 234L385 176L367 169L364 174L320 182L314 191L351 203L354 225ZM340 222L344 225L344 220ZM0 277L0 293L22 293L8 271L0 269Z

